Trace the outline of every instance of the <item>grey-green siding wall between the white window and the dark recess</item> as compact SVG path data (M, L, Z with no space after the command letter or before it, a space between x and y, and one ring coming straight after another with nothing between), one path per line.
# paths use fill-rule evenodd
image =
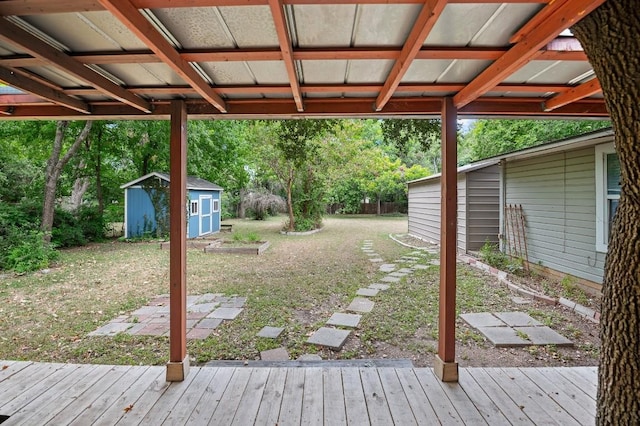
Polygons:
M508 162L503 180L505 203L524 211L529 261L602 283L594 148Z

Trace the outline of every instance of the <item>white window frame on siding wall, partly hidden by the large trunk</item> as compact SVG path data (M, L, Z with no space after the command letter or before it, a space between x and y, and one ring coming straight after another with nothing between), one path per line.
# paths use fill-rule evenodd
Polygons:
M620 196L607 195L607 154L615 154L612 143L595 147L596 160L596 250L606 253L609 242L609 199Z

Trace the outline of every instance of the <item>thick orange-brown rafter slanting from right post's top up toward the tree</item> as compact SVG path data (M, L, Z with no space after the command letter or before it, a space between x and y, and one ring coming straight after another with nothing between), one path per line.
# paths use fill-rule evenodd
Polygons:
M536 28L523 34L520 41L507 53L458 92L453 98L456 107L461 108L493 89L507 76L533 59L539 50L560 32L588 15L604 1L567 0L562 7L556 9L552 15L547 16Z

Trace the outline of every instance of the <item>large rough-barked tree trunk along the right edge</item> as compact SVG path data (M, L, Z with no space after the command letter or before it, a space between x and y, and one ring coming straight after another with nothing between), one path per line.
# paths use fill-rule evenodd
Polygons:
M640 424L640 9L608 0L576 24L602 85L622 175L602 287L599 425Z

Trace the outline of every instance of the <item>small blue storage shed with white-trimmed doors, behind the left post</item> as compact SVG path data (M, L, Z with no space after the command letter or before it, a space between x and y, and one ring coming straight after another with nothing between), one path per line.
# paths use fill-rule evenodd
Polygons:
M153 235L169 217L169 174L152 172L120 186L124 189L124 236ZM187 177L187 238L220 231L222 188L194 176ZM156 211L156 207L161 209ZM162 222L159 224L159 222Z

